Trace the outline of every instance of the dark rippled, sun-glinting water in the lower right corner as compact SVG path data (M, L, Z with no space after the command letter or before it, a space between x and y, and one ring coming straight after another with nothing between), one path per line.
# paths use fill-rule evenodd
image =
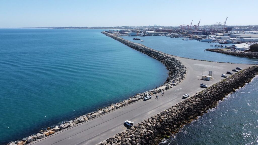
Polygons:
M258 144L258 77L160 145Z

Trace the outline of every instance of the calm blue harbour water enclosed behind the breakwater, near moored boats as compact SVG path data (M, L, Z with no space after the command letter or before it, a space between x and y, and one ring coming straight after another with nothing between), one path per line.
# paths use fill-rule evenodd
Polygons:
M144 40L140 42L139 40L133 40L133 38L140 38ZM218 43L207 43L199 42L196 40L184 41L182 38L170 38L165 36L123 36L122 38L127 39L132 42L143 44L152 49L162 51L167 54L172 54L179 57L199 59L199 60L208 60L216 62L232 62L232 63L244 63L244 64L257 64L258 58L245 58L245 57L236 57L232 55L226 55L222 53L204 51L210 47L210 44ZM232 44L227 44L232 45Z

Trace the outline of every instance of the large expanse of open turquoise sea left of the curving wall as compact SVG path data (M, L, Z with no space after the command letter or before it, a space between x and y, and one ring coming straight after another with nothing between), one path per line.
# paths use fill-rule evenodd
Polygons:
M93 29L0 29L0 144L162 85L162 63Z

